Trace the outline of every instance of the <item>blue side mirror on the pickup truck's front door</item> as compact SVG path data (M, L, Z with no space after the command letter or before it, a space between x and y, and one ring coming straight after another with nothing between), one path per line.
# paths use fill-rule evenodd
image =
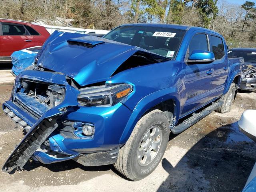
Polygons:
M190 54L187 62L212 62L215 60L213 52L203 51L203 50L194 50Z

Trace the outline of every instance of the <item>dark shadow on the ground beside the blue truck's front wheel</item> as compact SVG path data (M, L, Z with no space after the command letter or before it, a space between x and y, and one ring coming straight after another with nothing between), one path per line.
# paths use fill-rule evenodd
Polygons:
M240 192L255 163L254 151L254 142L239 131L237 122L221 126L199 140L175 167L162 160L169 176L158 191Z

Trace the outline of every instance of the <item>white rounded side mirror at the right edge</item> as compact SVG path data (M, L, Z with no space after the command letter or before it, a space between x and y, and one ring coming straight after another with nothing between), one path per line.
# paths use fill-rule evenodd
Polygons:
M256 142L256 110L245 110L238 121L239 129Z

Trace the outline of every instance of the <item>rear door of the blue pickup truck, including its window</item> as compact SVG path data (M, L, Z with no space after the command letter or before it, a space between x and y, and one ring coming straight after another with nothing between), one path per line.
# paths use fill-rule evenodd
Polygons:
M209 34L210 51L214 53L215 61L213 65L212 87L209 94L209 100L218 98L222 95L226 79L228 77L229 65L228 58L225 55L224 42L220 36Z

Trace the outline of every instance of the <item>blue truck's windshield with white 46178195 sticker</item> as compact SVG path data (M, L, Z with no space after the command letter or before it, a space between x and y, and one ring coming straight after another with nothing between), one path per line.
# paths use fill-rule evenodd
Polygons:
M185 32L164 27L120 26L106 34L104 38L174 58Z

